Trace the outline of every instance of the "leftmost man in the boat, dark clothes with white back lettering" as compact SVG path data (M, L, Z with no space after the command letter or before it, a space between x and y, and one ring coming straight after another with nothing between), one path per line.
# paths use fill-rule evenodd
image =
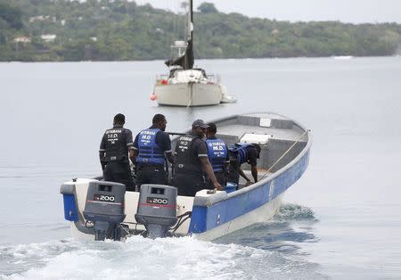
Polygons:
M131 130L123 128L125 123L123 114L114 117L113 128L107 129L102 137L99 158L104 180L124 184L127 191L134 191L128 160L128 156L134 156L134 143Z

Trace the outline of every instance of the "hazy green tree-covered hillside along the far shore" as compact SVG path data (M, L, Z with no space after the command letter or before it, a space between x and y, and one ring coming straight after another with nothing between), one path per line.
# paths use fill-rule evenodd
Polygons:
M194 12L195 58L394 55L397 23L349 24L249 18L202 3ZM0 61L167 59L184 15L127 0L0 0Z

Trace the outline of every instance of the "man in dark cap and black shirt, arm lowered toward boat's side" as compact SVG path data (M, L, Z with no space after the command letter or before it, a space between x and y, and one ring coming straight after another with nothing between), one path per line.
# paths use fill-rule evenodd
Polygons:
M207 188L204 173L212 182L212 187L223 190L217 182L208 159L208 149L202 137L209 128L202 119L192 123L191 133L178 138L176 143L176 164L173 185L178 188L179 195L195 196L198 191Z

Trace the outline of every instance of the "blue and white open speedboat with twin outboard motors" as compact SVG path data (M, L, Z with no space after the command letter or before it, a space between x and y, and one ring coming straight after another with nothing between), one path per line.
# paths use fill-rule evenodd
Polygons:
M225 191L205 189L190 197L177 195L171 185L142 185L140 192L126 192L125 185L102 178L74 178L61 185L72 235L86 240L191 235L210 241L272 218L285 191L307 169L310 131L272 112L214 122L225 144L261 146L257 183L245 186L240 180L239 185L227 184ZM177 137L173 147L176 141ZM241 169L250 172L247 163Z

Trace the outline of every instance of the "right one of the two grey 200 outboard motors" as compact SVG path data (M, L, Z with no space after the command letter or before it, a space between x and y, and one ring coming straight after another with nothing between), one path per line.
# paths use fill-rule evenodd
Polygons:
M141 185L135 219L145 226L147 237L166 237L169 227L176 224L176 195L174 186Z

